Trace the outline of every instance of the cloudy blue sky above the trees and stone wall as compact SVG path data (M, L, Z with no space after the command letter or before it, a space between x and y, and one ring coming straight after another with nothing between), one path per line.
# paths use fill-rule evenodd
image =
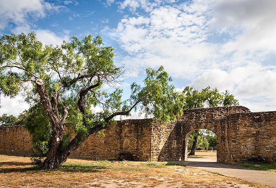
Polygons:
M100 34L125 65L124 97L147 67L173 84L234 94L251 111L276 110L276 0L0 0L0 33L36 31L44 44ZM0 115L28 106L1 97Z

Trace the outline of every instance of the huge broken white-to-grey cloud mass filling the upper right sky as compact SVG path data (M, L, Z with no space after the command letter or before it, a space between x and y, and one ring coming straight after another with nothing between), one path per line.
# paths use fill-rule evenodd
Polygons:
M119 5L135 12L109 32L129 53L120 60L134 70L130 76L163 65L173 76L194 79L206 69L262 63L276 53L273 0L166 2L172 3L125 0ZM140 14L138 8L150 11Z

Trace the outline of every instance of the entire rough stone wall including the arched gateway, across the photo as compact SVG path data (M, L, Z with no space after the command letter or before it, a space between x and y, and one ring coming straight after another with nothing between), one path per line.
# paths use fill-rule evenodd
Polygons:
M276 163L276 112L246 107L188 109L168 125L152 119L118 121L103 135L91 135L71 157L171 161L187 159L187 137L196 129L217 135L217 161ZM0 153L29 155L24 126L0 127Z

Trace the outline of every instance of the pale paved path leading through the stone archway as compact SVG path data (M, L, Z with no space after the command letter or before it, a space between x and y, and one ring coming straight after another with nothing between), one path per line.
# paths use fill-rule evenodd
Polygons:
M178 161L187 166L217 172L225 176L236 177L249 182L276 187L276 173L267 171L255 171L234 165L217 163L217 158L212 157L188 157L188 161Z

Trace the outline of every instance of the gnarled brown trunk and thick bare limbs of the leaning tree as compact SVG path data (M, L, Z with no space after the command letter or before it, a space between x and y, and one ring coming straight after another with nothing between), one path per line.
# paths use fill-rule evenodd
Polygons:
M43 82L42 82L43 83ZM96 88L100 85L100 80L98 78L98 83L95 85L91 85L87 88L83 88L79 93L79 100L78 100L78 108L80 112L83 115L86 115L86 109L85 109L85 96L89 91L92 91L93 88ZM129 115L131 110L142 100L137 101L133 107L131 107L128 111L124 112L115 112L111 114L109 117L107 117L105 121L105 126L97 125L95 127L92 127L88 130L87 134L79 133L75 136L73 140L68 144L66 149L64 151L58 152L59 144L61 143L64 127L63 122L67 116L67 110L65 107L63 107L63 115L61 118L58 117L58 112L55 110L55 107L57 106L57 98L58 94L53 97L53 99L50 101L49 97L45 91L44 84L41 84L37 87L38 93L41 97L42 105L45 109L45 112L47 113L47 116L51 119L52 122L52 129L54 130L53 137L50 142L49 151L47 153L46 159L43 161L42 168L43 169L58 169L60 165L62 165L80 145L83 143L91 134L94 134L98 131L101 131L103 129L107 128L107 125L109 121L118 115ZM93 92L93 91L92 91ZM95 97L95 95L94 95ZM50 107L50 108L49 108Z

